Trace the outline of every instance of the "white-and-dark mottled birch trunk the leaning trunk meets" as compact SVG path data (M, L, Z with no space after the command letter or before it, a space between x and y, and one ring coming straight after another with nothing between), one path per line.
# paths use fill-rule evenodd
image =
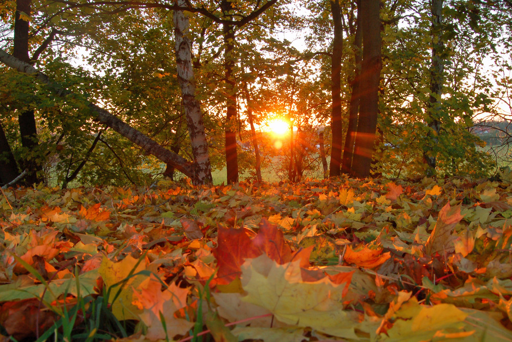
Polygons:
M185 0L176 0L176 5L185 6ZM204 132L201 105L196 98L196 82L192 68L191 42L188 37L188 16L183 11L174 11L174 36L176 39L176 64L178 83L181 87L183 106L190 134L192 155L194 157L194 177L192 182L211 184L211 166L208 156L208 142Z

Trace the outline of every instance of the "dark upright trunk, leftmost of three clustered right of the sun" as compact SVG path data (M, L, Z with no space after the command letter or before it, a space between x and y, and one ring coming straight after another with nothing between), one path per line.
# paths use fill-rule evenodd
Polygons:
M342 12L338 0L330 0L332 22L334 25L334 38L332 42L331 57L331 163L329 176L339 176L342 165L343 149L343 118L342 118L342 95L341 95L341 75L342 75L342 53L343 53L343 26Z

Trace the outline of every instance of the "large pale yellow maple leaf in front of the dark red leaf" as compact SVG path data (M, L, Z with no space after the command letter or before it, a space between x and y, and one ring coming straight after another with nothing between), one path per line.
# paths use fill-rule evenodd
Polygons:
M242 300L268 309L283 323L357 338L355 328L362 317L345 310L344 287L328 277L306 283L298 261L278 265L263 254L244 263L241 279L247 292Z

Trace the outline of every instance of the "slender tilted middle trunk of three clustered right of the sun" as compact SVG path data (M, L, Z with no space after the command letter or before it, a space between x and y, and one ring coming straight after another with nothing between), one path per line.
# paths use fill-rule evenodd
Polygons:
M357 8L360 9L360 0L357 1ZM359 114L359 75L361 73L361 17L357 15L356 29L354 35L354 79L352 80L352 93L349 104L349 123L347 125L347 136L345 137L345 148L343 150L342 172L350 174L352 170L352 158L354 156L354 144L357 131L357 120Z

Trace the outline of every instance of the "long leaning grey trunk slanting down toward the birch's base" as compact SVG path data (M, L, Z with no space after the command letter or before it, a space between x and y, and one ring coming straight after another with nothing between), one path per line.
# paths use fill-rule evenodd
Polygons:
M71 95L72 93L66 89L60 87L54 83L47 75L38 71L36 68L20 61L14 56L8 54L4 50L0 49L0 62L5 65L16 69L20 72L33 75L41 83L44 83L50 87L50 89L58 96ZM78 95L75 95L79 97ZM121 134L125 138L129 139L132 143L142 148L148 154L152 154L162 162L173 165L178 171L184 173L187 177L194 179L193 165L189 163L182 156L166 150L163 146L156 143L151 138L144 135L144 133L136 130L130 125L124 123L121 119L115 117L103 108L96 106L90 102L87 102L89 110L91 111L92 118L101 124L112 128L117 133Z

